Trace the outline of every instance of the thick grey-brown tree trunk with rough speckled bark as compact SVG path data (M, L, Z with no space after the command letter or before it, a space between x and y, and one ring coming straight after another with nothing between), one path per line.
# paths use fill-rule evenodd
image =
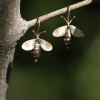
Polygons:
M6 100L15 45L26 25L20 15L20 0L0 0L0 100Z

